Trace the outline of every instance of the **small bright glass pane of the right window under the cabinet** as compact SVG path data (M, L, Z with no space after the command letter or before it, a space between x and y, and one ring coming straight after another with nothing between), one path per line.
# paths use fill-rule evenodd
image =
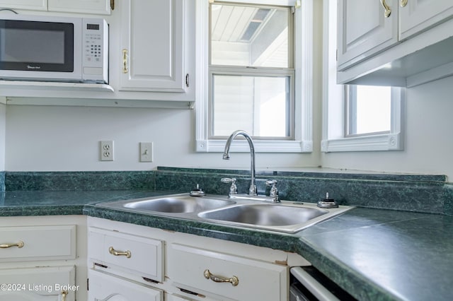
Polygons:
M351 134L390 131L391 87L357 85L356 88L355 132Z

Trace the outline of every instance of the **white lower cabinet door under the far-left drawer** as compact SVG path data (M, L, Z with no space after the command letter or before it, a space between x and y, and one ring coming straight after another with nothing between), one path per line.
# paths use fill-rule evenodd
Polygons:
M75 266L0 269L0 300L74 301Z

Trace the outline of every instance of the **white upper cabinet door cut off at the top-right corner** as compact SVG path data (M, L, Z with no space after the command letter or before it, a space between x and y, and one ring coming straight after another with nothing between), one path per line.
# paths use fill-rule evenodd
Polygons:
M453 1L440 0L398 0L399 8L399 39L420 33L447 18L453 16Z

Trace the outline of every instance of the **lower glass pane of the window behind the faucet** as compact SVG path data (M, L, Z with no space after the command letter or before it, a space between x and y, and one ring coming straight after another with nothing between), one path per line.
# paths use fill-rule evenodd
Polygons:
M212 136L288 137L289 77L214 75Z

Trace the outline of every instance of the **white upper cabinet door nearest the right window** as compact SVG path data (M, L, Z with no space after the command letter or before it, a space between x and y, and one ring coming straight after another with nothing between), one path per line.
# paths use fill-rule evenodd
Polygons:
M398 41L398 6L385 16L378 0L338 0L338 69L394 45Z

